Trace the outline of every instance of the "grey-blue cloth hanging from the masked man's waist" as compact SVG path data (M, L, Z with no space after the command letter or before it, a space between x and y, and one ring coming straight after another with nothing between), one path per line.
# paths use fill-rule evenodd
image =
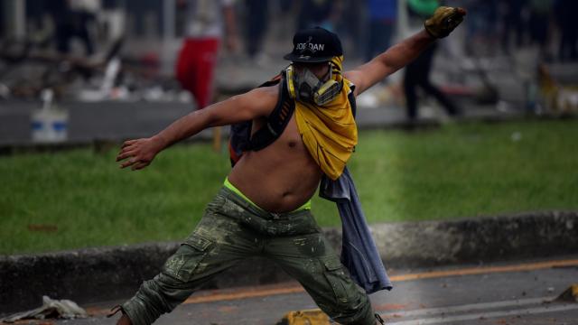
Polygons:
M341 263L350 271L353 281L368 293L391 290L393 285L371 237L348 168L345 167L336 181L323 176L319 195L334 201L340 211L343 228Z

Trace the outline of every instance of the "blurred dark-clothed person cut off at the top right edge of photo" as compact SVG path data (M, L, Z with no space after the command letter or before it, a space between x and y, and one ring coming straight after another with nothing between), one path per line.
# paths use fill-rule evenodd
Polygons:
M561 32L558 59L562 61L578 60L578 1L556 0L555 21Z

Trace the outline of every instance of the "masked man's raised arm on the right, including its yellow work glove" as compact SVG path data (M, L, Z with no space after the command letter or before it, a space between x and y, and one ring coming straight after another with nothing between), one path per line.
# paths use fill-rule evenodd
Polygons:
M432 18L424 23L424 30L397 43L358 68L345 72L345 78L356 85L355 95L358 96L379 80L415 60L436 39L452 32L465 14L465 10L461 8L439 7Z

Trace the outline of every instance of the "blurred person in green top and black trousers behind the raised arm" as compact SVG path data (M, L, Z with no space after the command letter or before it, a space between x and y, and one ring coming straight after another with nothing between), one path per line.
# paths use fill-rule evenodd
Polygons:
M438 5L437 0L408 0L407 9L410 15L423 20L431 16ZM430 79L433 56L437 47L437 43L431 44L417 59L406 66L404 93L406 95L407 118L410 122L414 122L418 116L417 88L421 88L425 94L437 99L450 116L460 114L458 107L439 88L435 87Z

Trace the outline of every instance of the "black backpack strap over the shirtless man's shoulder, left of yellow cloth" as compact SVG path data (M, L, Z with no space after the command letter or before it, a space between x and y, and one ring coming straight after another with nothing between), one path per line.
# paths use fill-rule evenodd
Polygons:
M295 102L289 96L287 80L283 72L281 82L279 83L279 100L277 100L277 105L273 112L267 116L266 125L263 125L263 127L257 130L251 137L247 149L258 151L269 144L273 144L275 140L283 134L285 127L289 124L293 116L294 110Z

